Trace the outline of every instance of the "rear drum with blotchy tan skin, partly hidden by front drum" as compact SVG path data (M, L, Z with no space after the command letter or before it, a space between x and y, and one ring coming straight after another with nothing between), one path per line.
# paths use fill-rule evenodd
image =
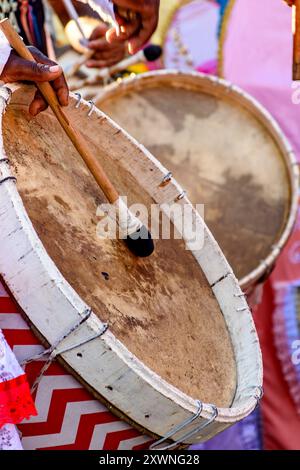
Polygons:
M159 71L110 85L96 104L204 204L243 288L269 274L295 221L298 167L258 102L214 77Z

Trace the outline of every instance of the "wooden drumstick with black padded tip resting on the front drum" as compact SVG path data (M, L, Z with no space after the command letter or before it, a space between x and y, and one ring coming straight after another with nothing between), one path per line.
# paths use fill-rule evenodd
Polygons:
M0 28L5 34L11 47L19 54L20 57L31 62L35 62L35 59L29 49L25 46L21 37L14 30L11 23L7 18L0 21ZM51 107L54 115L61 124L65 133L73 143L74 147L84 160L86 166L94 176L98 186L101 188L108 201L114 204L119 209L119 226L126 232L124 234L124 241L127 243L128 248L136 255L145 257L151 255L154 250L153 240L150 232L147 228L128 210L123 200L120 198L118 191L106 175L102 165L98 159L95 158L93 153L90 151L87 143L80 132L75 129L70 123L65 112L61 108L57 96L48 82L36 83L36 86L44 96L45 100ZM122 227L123 225L123 227Z

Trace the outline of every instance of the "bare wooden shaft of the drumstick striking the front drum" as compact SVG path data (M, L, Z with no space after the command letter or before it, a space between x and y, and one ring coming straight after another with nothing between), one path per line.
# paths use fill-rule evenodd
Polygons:
M35 62L35 59L29 49L26 47L18 33L14 30L12 25L10 24L9 20L6 18L0 21L0 28L5 34L8 42L10 43L11 47L15 49L15 51L19 54L20 57L26 59L31 62ZM57 96L51 87L50 83L48 82L41 82L36 83L37 87L41 91L42 95L44 96L45 100L51 107L53 113L57 117L58 121L60 122L62 128L64 129L65 133L72 141L74 147L77 149L78 153L81 155L82 159L84 160L86 166L94 176L95 180L97 181L98 185L102 189L103 193L107 197L110 203L115 203L119 199L119 193L115 189L114 185L106 175L102 165L99 161L95 158L93 153L89 150L84 138L78 132L72 124L69 122L68 117L66 116L65 112L61 108Z

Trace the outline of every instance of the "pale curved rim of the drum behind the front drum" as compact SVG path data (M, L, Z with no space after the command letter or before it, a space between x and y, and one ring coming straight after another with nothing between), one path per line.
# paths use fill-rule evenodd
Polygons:
M137 83L142 82L143 80L150 80L151 78L167 79L176 77L180 77L180 80L183 80L185 77L187 79L200 79L202 83L206 82L212 86L219 87L221 90L226 92L226 95L229 98L232 97L233 100L236 99L236 101L241 106L245 106L251 114L254 114L255 118L261 123L262 126L266 128L278 146L284 161L289 178L291 195L286 223L277 243L273 245L270 254L261 260L255 269L250 271L246 276L239 279L241 288L248 289L254 284L260 283L260 280L264 279L266 273L270 273L272 271L279 254L291 236L292 229L296 223L298 212L298 187L300 179L299 163L297 162L294 150L286 135L270 112L267 111L267 109L256 98L251 96L248 92L242 90L242 88L239 86L214 75L208 75L196 71L184 72L173 69L145 72L136 76L126 77L120 82L109 84L96 96L95 103L97 106L101 106L101 102L109 99L111 96L114 96L117 90L120 92L120 94L122 94L125 90L127 90L127 88L134 88ZM180 83L182 83L184 87L184 81L180 81Z

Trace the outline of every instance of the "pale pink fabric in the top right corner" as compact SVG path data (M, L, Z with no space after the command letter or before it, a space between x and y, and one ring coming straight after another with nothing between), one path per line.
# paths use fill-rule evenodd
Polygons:
M280 0L236 0L224 43L225 78L277 118L300 157L300 104L292 102L291 8Z

